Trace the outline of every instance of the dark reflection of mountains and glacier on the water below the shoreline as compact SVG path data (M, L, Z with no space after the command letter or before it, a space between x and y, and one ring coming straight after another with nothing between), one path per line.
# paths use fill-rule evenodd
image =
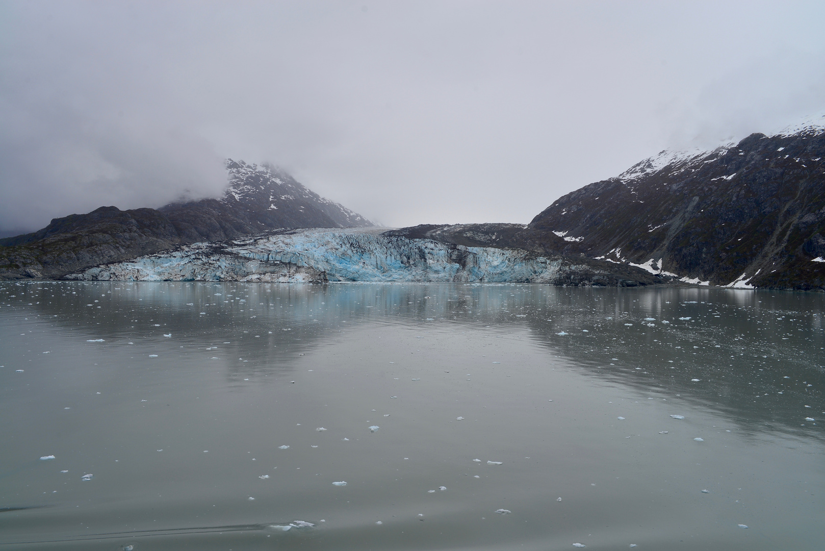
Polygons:
M291 359L365 326L529 330L577 368L639 391L667 392L766 430L800 427L825 368L823 297L721 289L593 289L516 284L277 285L16 283L0 292L59 325L106 340L188 335L219 345L231 373ZM15 297L11 297L14 295ZM369 338L362 332L357 338ZM223 344L229 341L230 344ZM215 353L218 354L218 353ZM242 357L250 360L236 361ZM231 359L231 361L229 360ZM252 361L257 360L257 361ZM258 367L252 367L258 366ZM699 379L694 381L693 379ZM758 397L757 397L758 396Z

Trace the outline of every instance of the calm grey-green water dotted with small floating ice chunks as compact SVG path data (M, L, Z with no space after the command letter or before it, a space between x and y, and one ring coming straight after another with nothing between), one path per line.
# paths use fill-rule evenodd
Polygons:
M0 549L823 549L823 313L2 283Z

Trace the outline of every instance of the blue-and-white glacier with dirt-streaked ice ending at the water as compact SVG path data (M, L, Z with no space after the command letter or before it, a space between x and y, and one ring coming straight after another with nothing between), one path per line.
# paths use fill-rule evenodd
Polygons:
M652 274L589 259L450 245L380 230L289 230L197 243L66 276L83 280L266 282L533 282L635 287ZM624 277L622 277L624 276Z

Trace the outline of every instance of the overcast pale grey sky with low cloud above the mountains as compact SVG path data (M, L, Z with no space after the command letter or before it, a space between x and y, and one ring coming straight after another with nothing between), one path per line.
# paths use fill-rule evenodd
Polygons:
M0 230L280 164L388 226L526 223L825 108L825 2L0 2Z

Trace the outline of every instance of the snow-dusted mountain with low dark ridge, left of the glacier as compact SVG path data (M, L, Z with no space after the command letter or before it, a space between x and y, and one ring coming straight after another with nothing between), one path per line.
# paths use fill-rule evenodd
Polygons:
M0 278L60 278L78 269L196 241L233 240L276 228L372 226L271 165L227 161L219 199L159 209L100 207L55 218L31 234L0 240Z

